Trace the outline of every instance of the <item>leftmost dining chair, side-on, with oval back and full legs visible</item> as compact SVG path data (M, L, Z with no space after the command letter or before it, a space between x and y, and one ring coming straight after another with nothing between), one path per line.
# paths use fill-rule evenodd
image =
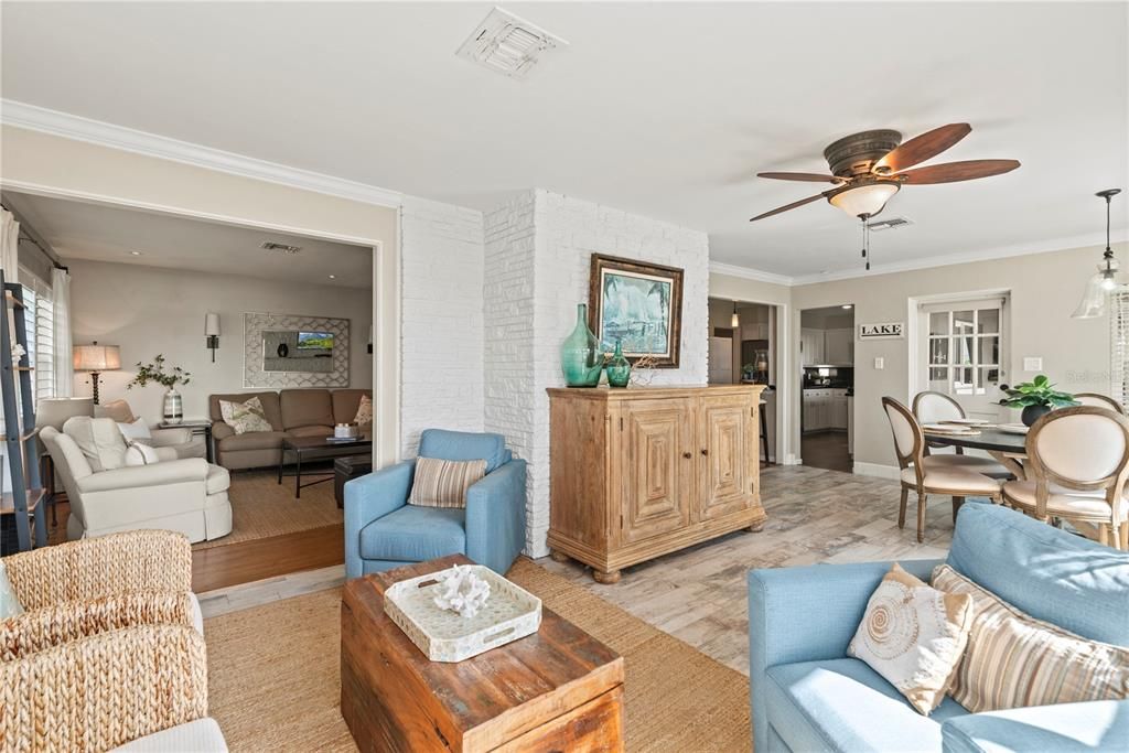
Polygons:
M902 494L898 509L898 527L905 527L905 506L909 493L918 496L918 543L925 541L925 507L929 494L953 498L953 519L965 497L988 497L1000 501L999 482L975 471L938 463L939 455L925 454L925 431L910 409L893 397L883 397L882 406L894 435L894 454L901 467Z

